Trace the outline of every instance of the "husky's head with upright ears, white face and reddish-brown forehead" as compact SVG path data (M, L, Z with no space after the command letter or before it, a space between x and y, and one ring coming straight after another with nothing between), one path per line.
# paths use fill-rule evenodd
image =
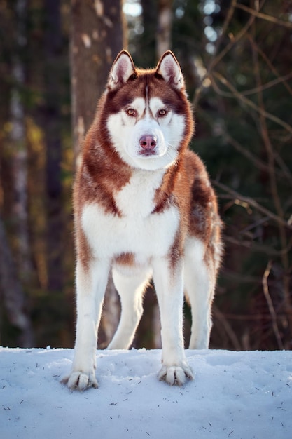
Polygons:
M102 123L120 158L134 168L167 168L193 134L183 75L167 51L155 69L137 69L119 53L109 74Z

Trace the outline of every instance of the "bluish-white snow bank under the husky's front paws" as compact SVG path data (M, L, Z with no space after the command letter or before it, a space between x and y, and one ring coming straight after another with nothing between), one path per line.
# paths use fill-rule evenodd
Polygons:
M98 389L60 379L71 349L0 348L0 437L292 438L292 351L186 351L195 379L157 379L161 351L97 351Z

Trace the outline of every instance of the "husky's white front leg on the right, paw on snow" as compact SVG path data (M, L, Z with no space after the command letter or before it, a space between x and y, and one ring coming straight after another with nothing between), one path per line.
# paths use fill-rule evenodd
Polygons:
M162 368L158 377L168 384L182 386L187 378L193 379L183 346L183 263L179 262L171 269L169 259L156 260L153 279L160 307L162 338Z

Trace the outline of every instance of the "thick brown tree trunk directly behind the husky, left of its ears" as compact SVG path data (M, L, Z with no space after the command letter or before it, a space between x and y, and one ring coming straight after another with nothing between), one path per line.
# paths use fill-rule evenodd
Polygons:
M113 60L125 46L121 0L71 0L71 102L76 166ZM109 343L118 317L118 297L110 279L99 328L99 346Z

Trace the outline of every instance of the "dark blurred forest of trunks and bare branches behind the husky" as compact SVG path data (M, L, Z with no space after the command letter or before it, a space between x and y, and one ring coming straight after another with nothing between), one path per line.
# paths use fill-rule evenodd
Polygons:
M74 345L71 187L119 50L174 51L225 223L212 348L292 348L292 2L0 0L0 344ZM111 280L99 346L118 323ZM135 347L160 347L152 288ZM190 310L185 305L185 338Z

